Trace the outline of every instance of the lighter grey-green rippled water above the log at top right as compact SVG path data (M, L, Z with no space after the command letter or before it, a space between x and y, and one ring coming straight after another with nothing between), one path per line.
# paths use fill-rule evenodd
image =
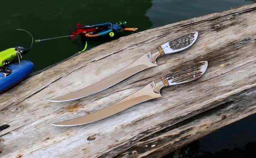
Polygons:
M251 3L244 0L153 0L146 15L153 23L151 28L155 28Z

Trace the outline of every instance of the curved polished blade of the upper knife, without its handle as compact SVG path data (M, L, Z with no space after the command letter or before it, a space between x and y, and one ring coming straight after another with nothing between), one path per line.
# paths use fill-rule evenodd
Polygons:
M100 92L104 89L107 89L107 88L121 82L122 80L125 80L126 78L130 77L131 75L136 74L137 72L140 72L144 69L148 69L150 67L157 66L156 63L152 63L150 61L150 57L151 57L151 52L148 52L147 54L140 57L138 60L136 60L131 65L120 70L119 72L116 72L115 74L109 76L108 78L105 78L104 80L101 80L91 86L87 86L86 88L80 89L76 92L72 92L72 93L63 95L58 98L50 99L49 101L52 101L52 102L72 101L75 99L84 98L88 95L92 95L92 94Z

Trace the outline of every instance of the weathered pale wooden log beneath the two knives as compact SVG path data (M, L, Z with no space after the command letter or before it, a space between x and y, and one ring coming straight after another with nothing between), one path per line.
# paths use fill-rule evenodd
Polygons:
M34 73L0 94L0 157L163 156L256 113L256 4L138 32ZM162 43L197 31L189 49L157 59L157 67L76 101L50 98L89 86ZM191 83L91 124L51 124L107 107L189 63L207 60Z

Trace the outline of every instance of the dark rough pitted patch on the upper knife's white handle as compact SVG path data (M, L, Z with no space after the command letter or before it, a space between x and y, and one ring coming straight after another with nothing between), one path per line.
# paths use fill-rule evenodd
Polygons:
M195 32L190 33L190 34L185 34L184 36L178 37L174 40L171 40L169 42L169 46L172 50L175 49L181 49L184 48L186 46L189 46L193 40L195 39Z

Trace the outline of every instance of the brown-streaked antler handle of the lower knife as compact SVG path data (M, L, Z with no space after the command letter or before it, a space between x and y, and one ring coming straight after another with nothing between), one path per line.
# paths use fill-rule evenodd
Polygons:
M207 61L199 61L178 71L172 72L171 74L166 75L165 78L168 80L169 85L189 82L200 78L206 71L207 66Z

